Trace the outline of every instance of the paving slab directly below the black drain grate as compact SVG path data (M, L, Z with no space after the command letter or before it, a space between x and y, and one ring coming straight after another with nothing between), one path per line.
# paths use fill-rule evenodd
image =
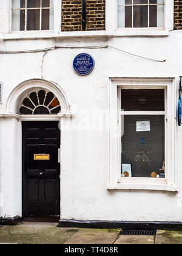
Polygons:
M154 244L154 236L149 235L121 235L115 244Z

